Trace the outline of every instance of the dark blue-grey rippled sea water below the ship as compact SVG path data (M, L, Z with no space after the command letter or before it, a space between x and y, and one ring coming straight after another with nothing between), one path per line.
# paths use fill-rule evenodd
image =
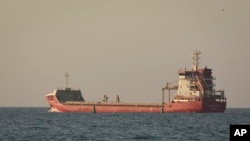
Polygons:
M250 124L250 109L225 113L50 113L48 108L0 108L0 140L229 140L230 124Z

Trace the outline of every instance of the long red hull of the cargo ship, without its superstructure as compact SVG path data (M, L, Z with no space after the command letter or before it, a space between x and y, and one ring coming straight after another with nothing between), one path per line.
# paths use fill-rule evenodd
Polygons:
M168 113L168 112L224 112L226 102L196 101L182 103L167 103L161 105L123 105L123 104L61 104L48 100L56 112L87 112L87 113Z

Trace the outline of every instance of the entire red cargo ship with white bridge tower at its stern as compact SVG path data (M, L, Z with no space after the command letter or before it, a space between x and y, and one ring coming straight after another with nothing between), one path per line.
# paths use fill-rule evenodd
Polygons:
M68 87L66 73L66 88L56 89L46 95L50 112L88 112L88 113L168 113L197 112L217 113L226 109L224 90L215 90L212 69L199 68L200 51L193 52L193 67L178 70L178 84L166 83L161 89L162 101L159 103L123 102L119 96L115 101L108 101L106 95L98 102L86 101L81 90ZM177 81L176 81L177 82ZM165 91L168 100L165 101ZM175 94L171 99L171 91Z

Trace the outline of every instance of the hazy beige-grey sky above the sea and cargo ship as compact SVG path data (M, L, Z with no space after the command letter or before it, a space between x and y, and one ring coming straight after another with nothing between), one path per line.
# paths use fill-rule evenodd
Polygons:
M65 72L89 101L161 102L198 49L250 108L249 35L249 0L0 0L0 106L48 106Z

